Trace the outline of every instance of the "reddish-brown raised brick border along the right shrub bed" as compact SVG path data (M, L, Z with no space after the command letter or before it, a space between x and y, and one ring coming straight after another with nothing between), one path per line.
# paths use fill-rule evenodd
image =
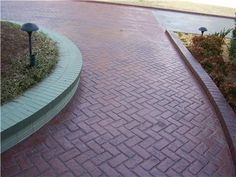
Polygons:
M173 32L166 30L166 34L173 46L181 55L183 61L197 78L212 105L214 106L217 117L219 118L224 135L229 145L232 159L236 166L236 114L229 106L213 80L202 68L200 63L193 57L189 50L184 46L181 40Z

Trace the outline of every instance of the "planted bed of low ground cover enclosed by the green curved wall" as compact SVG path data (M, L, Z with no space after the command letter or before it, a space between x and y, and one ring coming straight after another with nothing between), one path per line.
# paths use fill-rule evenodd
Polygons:
M58 59L56 43L42 32L33 33L37 66L29 68L28 34L20 28L1 21L1 105L46 78Z

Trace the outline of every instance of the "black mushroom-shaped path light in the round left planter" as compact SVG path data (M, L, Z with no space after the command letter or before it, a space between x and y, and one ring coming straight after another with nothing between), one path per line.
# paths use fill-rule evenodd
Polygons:
M21 30L29 35L29 53L30 53L30 66L35 66L35 55L32 55L32 42L31 36L34 31L38 31L38 26L33 23L25 23L22 25Z

